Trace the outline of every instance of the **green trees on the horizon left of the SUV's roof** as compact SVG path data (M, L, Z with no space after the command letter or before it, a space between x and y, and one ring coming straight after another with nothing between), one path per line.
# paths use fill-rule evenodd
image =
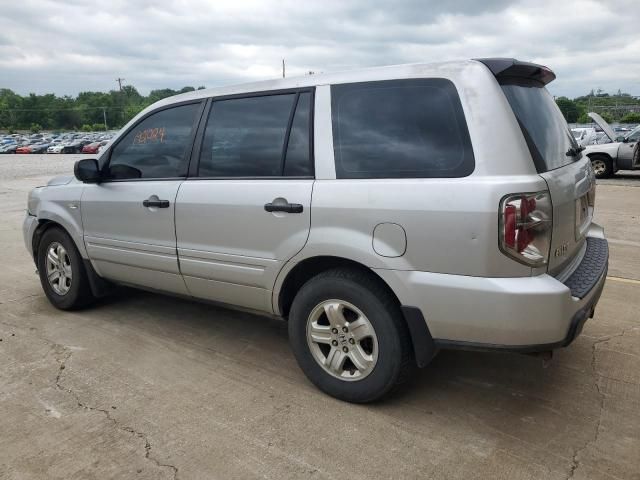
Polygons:
M205 87L198 87L198 90ZM118 129L145 107L194 87L179 90L163 88L141 95L135 87L122 90L81 92L76 97L18 95L8 88L0 89L0 130L105 130Z

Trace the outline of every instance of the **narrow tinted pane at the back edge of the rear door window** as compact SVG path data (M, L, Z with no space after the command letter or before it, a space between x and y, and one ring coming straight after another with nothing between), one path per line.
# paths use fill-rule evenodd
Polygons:
M313 175L309 143L311 94L301 93L293 117L289 145L284 163L284 175L305 177Z

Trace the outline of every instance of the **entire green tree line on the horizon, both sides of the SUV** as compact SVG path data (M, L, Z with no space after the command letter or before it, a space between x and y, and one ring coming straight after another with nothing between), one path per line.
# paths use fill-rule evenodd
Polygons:
M198 90L205 87L198 87ZM179 90L163 88L140 95L131 85L122 90L81 92L77 97L46 95L21 96L0 89L0 130L103 130L118 129L152 103L194 87ZM610 95L602 90L569 99L557 97L556 103L569 123L590 123L587 112L595 111L609 122L640 123L640 99L618 91Z

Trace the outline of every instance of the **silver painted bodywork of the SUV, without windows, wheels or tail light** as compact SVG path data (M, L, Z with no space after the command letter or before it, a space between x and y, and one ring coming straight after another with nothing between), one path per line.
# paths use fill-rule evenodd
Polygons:
M449 79L459 93L473 173L452 179L336 179L330 85L430 77ZM318 256L340 257L372 269L401 303L420 308L434 338L531 345L564 337L583 302L555 276L566 278L584 252L584 238L575 237L574 209L575 199L591 185L588 160L538 175L500 85L479 62L199 90L161 100L127 127L176 102L298 87L315 87L314 179L100 185L74 180L32 194L27 246L34 219L51 219L71 233L82 256L105 278L275 314L282 313L280 291L296 265ZM518 263L498 248L501 198L547 189L554 205L554 246L568 243L549 271ZM170 200L171 207L143 207L151 195ZM302 204L303 213L266 212L264 204L277 198ZM74 202L80 208L71 211L67 205ZM398 227L374 238L381 224ZM598 229L592 225L587 234L597 235Z

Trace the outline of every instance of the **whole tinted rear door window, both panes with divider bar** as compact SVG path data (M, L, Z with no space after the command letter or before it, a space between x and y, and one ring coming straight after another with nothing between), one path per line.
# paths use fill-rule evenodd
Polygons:
M311 175L310 96L303 92L214 101L198 175Z

